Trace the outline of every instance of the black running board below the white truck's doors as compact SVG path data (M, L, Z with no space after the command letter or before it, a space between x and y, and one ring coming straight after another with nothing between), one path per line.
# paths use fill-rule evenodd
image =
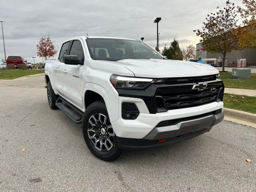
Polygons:
M82 122L82 119L78 115L76 115L74 112L72 112L69 108L67 108L63 103L70 106L72 109L74 109L76 112L78 112L78 114L80 114L81 116L83 115L83 112L80 111L75 106L71 105L70 103L66 102L66 100L62 99L61 97L59 97L56 100L56 103L55 103L56 106L60 110L62 110L62 112L64 112L72 121L74 121L76 124L80 124Z

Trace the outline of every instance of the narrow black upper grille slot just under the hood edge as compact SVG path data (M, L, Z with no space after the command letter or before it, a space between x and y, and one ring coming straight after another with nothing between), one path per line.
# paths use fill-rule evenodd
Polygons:
M168 78L166 84L182 84L182 83L198 83L216 80L216 75L200 76L200 77L180 77Z

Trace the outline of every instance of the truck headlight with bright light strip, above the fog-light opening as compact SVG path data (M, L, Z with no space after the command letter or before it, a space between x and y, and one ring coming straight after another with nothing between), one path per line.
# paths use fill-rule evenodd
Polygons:
M151 83L162 83L164 79L136 78L112 75L110 82L115 88L123 89L145 89Z

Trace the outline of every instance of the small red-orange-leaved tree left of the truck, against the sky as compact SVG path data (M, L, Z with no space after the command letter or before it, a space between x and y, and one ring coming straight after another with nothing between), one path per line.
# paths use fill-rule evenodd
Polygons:
M44 60L47 60L48 58L54 56L57 53L57 51L55 50L53 43L54 41L50 39L49 34L41 34L39 43L36 46L37 56L44 58Z

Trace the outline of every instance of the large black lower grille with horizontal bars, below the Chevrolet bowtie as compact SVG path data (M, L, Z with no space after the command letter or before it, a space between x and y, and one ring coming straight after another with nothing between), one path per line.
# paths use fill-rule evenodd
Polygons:
M221 82L222 83L222 82ZM193 84L162 87L156 90L156 96L161 96L167 110L200 106L216 102L221 84L208 84L204 90L192 90Z

